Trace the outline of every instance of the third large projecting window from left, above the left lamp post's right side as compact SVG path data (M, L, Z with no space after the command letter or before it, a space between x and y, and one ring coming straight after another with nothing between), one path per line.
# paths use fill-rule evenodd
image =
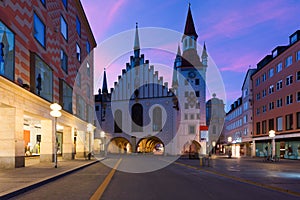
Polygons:
M60 79L59 81L60 81L59 96L61 98L60 104L62 105L65 111L68 111L69 113L73 113L73 109L72 109L73 89L62 79Z

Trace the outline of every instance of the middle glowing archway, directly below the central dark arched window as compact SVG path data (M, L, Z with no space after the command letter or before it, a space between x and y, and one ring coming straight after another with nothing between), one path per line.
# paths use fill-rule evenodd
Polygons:
M162 155L165 151L164 143L155 136L142 138L137 143L138 153L153 153L155 155Z

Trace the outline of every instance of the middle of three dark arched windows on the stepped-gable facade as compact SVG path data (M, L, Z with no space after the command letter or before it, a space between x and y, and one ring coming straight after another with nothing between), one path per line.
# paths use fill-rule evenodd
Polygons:
M143 131L143 106L141 104L134 104L131 109L131 119L133 132Z

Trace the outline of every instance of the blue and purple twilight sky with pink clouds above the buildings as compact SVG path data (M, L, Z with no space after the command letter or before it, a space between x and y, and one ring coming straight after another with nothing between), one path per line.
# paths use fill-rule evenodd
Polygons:
M148 30L167 30L167 35L174 31L181 35L190 3L198 34L198 53L201 56L201 45L205 42L209 57L224 83L227 110L242 95L247 70L256 68L256 64L276 46L287 45L289 36L300 29L298 0L81 0L81 3L97 42L94 50L95 93L102 87L104 68L108 85L113 87L129 62L136 22L140 29L141 52L159 70L160 76L170 81L170 69L180 38L174 36L175 39L164 43L161 41L168 38ZM151 39L156 42L157 37L162 37L158 40L161 42L159 47L151 46ZM108 59L111 54L115 57ZM210 78L213 77L207 77ZM211 96L207 100L209 98Z

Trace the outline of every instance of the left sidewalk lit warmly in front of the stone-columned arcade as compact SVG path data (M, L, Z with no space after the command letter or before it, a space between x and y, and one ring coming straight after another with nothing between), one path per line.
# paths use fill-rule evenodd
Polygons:
M0 199L8 199L98 161L76 159L59 161L57 168L54 163L37 163L23 168L0 169Z

